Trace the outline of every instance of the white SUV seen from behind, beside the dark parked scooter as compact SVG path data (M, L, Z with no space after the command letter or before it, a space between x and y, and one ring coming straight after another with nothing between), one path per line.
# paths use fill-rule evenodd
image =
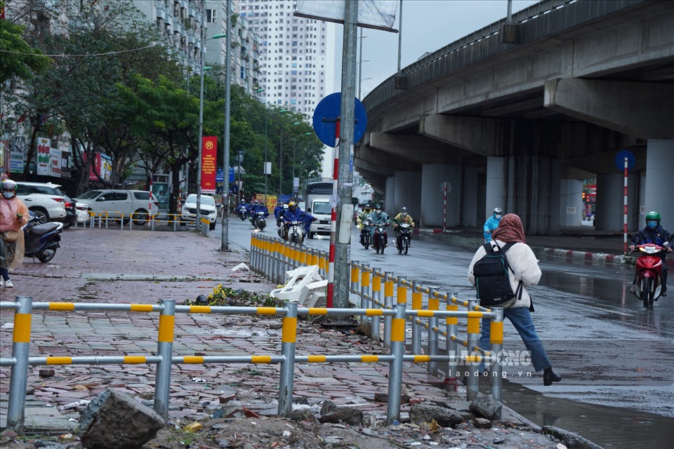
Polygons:
M43 222L66 222L65 196L51 182L16 182L16 196Z

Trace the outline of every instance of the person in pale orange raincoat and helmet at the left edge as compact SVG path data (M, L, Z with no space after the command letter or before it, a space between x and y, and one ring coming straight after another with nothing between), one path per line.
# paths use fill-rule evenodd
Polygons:
M28 222L28 208L16 196L16 182L6 179L0 196L0 286L13 288L9 269L23 261L24 241L21 227Z

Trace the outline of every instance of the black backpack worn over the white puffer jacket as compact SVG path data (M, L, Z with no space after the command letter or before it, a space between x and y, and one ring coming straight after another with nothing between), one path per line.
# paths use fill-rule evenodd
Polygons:
M496 245L496 242L493 242ZM477 299L480 300L482 307L499 306L509 302L515 297L513 288L510 287L510 276L508 270L513 271L505 257L505 251L513 246L515 242L506 243L503 248L495 251L492 243L484 243L484 249L487 254L473 265L473 274L475 275L475 288L477 288ZM522 281L517 286L517 293L522 295Z

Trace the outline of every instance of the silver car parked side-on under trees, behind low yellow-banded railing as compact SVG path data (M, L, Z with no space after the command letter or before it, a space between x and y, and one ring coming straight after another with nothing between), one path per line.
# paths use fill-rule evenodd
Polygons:
M86 204L93 213L107 213L110 218L124 217L128 222L133 213L133 224L143 226L150 215L150 195L152 195L152 213L159 210L159 201L147 190L97 189L88 190L74 200Z

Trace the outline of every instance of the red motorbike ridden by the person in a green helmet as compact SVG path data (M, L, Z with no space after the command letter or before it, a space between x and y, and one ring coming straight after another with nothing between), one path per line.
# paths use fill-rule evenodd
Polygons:
M644 307L652 306L662 293L662 255L669 243L659 246L654 243L637 245L639 257L636 262L635 296L642 300Z

